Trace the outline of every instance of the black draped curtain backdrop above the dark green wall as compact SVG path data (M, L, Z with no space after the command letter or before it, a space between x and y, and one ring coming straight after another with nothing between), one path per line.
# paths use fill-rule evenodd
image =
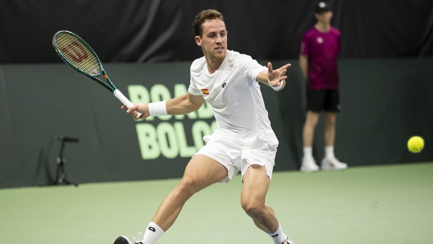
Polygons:
M254 59L296 59L314 23L313 0L1 0L0 63L61 62L53 34L69 30L103 62L194 60L192 22L223 13L229 49ZM335 0L342 58L433 56L432 0Z

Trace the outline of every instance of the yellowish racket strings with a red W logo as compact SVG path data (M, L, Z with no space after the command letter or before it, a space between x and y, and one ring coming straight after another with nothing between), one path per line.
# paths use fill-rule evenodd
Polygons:
M55 44L61 54L75 67L90 75L100 73L98 59L77 37L69 33L58 33L55 37Z

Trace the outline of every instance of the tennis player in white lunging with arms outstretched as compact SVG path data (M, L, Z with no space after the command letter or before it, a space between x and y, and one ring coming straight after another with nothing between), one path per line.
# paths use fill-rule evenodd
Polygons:
M265 204L278 140L258 84L261 81L276 91L283 89L290 64L273 70L271 63L264 67L248 55L227 50L226 25L216 10L198 13L194 31L204 57L191 65L187 94L169 101L134 104L127 112L135 119L188 114L206 100L212 107L218 129L204 137L207 144L191 158L181 181L165 197L144 236L138 240L134 237L134 243L155 243L194 193L216 182L227 184L240 171L241 205L246 214L275 244L294 244L282 232L272 208ZM142 116L137 117L134 111L141 112ZM125 236L118 237L114 243L132 244Z

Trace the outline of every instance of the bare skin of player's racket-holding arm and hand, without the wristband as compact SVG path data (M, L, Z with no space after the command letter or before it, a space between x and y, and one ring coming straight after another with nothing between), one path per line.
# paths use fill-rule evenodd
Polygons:
M187 92L187 94L178 96L166 102L167 114L189 114L197 111L203 103L204 98L202 95L195 96ZM130 107L126 112L131 114L136 120L145 119L150 116L148 104L133 103L133 105L134 106ZM126 108L126 106L122 106L122 109L124 108ZM140 112L142 115L138 117L136 112Z

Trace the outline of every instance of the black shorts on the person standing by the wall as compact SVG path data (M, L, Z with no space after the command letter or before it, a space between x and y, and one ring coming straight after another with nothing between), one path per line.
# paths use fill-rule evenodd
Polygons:
M341 110L338 90L312 90L307 89L307 111L313 112Z

